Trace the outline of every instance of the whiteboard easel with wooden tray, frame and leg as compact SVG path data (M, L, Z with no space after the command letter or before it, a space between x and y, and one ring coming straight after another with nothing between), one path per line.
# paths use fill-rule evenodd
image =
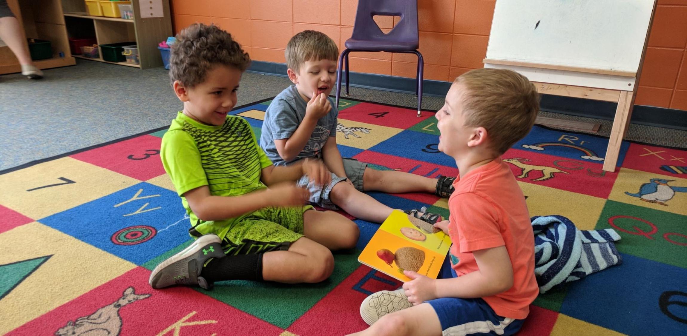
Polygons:
M540 92L617 102L604 163L614 171L654 10L655 0L497 0L484 67Z

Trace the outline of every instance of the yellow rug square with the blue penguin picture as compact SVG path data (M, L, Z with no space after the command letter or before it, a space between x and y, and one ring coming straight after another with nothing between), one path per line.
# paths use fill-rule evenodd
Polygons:
M687 179L620 168L608 199L687 215Z

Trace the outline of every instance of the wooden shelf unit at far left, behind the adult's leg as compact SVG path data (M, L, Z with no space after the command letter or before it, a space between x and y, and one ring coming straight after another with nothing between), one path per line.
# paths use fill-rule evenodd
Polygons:
M52 46L52 58L36 60L38 69L66 67L76 64L69 51L65 18L60 0L8 0L8 5L19 19L27 38L49 40ZM0 75L21 72L21 65L16 60L10 47L0 47Z

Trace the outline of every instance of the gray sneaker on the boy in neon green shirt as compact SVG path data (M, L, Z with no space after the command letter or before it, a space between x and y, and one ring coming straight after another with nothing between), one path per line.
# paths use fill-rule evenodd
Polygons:
M223 258L221 239L217 235L203 235L181 252L170 256L150 274L148 283L155 289L172 285L199 285L212 288L201 275L203 263L210 258Z

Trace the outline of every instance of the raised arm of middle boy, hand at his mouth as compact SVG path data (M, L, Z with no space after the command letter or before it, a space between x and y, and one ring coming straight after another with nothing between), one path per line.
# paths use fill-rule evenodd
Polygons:
M306 143L308 143L308 140L310 140L319 118L327 115L331 109L332 106L329 103L329 99L327 99L324 93L319 96L313 95L310 101L308 101L305 117L303 121L300 122L295 132L287 139L275 139L274 145L277 147L279 156L285 161L291 161L298 156Z

